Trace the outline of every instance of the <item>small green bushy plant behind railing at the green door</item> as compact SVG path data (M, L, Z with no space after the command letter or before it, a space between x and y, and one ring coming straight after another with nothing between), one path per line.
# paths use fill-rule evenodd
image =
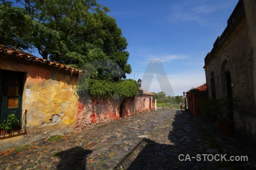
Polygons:
M10 131L13 130L14 128L19 128L19 126L19 120L17 119L16 115L12 113L9 114L7 120L3 121L3 124L1 125L0 129Z

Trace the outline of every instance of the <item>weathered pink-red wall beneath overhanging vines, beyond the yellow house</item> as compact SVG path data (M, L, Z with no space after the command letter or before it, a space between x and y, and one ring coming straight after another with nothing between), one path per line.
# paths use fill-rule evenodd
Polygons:
M134 114L150 111L150 97L151 109L154 109L152 96L150 95L125 97L123 100L98 99L92 101L91 99L80 99L76 118L76 129L81 130L82 128L102 124L118 118L133 116L133 109L135 111ZM143 99L145 99L144 107Z

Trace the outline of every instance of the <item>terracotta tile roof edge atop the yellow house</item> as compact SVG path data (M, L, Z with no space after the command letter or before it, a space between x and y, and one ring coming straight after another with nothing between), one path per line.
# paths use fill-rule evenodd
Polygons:
M1 44L0 44L0 54L3 54L4 56L7 56L7 57L22 59L22 60L28 61L28 62L39 63L39 64L42 64L45 66L56 67L58 69L63 69L63 70L69 71L72 74L79 74L82 72L81 70L63 65L61 63L51 62L47 59L35 57L30 53L26 53L26 52L23 52L22 50L11 48L9 46L5 46L5 45L1 45Z

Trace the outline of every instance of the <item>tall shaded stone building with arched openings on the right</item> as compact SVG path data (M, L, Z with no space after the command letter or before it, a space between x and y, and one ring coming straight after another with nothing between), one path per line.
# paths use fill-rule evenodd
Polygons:
M240 97L236 129L256 134L256 1L240 0L205 57L208 95Z

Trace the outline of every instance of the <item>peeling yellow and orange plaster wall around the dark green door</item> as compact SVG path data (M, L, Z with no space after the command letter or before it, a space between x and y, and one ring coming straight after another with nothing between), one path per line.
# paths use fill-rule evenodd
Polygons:
M2 146L25 145L75 129L78 75L6 57L0 57L0 69L23 72L22 109L27 110L26 135L1 140Z

